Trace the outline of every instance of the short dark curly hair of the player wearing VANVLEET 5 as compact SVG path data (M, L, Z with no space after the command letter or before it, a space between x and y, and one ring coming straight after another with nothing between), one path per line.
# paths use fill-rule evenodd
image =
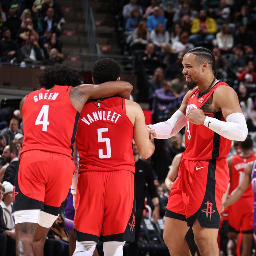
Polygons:
M92 77L95 84L101 84L116 81L121 72L121 67L116 60L105 58L95 62L92 68Z

